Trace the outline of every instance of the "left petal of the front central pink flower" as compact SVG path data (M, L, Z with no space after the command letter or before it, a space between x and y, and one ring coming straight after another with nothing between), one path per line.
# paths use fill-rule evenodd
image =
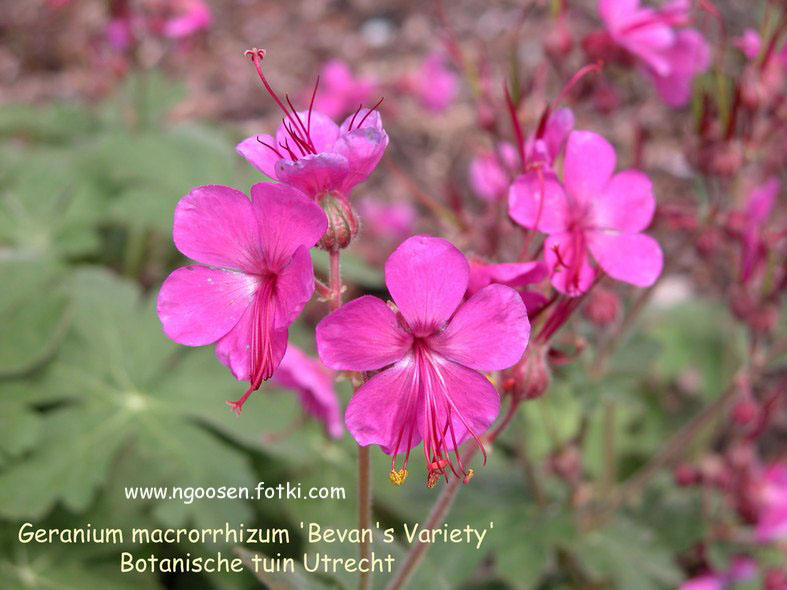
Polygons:
M390 308L371 295L350 301L317 324L317 350L332 369L380 369L401 360L412 341Z

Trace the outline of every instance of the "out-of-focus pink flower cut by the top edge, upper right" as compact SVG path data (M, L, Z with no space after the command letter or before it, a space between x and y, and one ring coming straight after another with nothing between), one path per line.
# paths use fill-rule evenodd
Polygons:
M687 0L672 0L660 9L640 7L639 0L599 0L601 18L612 39L645 67L656 90L670 106L683 106L691 82L710 65L710 49L695 29L676 31L689 22Z

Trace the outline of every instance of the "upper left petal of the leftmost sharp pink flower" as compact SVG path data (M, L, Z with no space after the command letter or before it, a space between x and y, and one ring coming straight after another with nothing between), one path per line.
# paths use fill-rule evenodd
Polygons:
M263 264L252 205L227 186L199 186L175 207L175 246L203 264L258 272Z

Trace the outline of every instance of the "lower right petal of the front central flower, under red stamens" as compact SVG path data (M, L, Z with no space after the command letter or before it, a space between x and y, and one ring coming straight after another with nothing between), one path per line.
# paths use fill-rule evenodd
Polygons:
M439 434L442 435L447 423L447 408L451 409L452 427L446 432L446 446L449 450L456 450L456 447L471 437L470 430L476 436L487 431L500 413L500 395L489 379L478 371L447 360L438 362L435 366L439 371L438 382L444 385L430 392L436 400L435 420L440 429ZM421 381L423 382L423 379ZM428 426L426 404L423 398L419 398L419 402L418 430L424 437Z

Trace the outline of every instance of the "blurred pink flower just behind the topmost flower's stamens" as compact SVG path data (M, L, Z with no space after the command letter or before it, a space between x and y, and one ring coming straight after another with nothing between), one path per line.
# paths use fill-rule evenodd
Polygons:
M320 72L320 87L314 108L335 118L353 112L378 93L377 84L369 78L356 78L350 66L333 59L325 62Z

